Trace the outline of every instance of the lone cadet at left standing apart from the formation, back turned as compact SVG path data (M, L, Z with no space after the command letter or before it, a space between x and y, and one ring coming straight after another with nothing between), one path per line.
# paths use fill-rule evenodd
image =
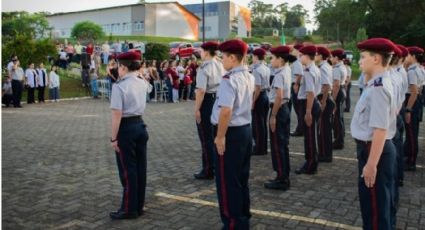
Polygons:
M115 150L123 187L121 207L111 219L133 219L143 214L146 190L148 132L142 115L152 86L138 75L140 54L118 55L120 80L112 87L111 146Z

